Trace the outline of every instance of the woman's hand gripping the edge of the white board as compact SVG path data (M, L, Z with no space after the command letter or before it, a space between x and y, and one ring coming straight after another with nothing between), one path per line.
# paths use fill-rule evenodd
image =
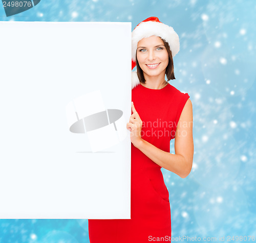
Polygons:
M131 142L135 147L138 147L139 143L142 141L141 138L141 128L142 120L138 112L135 110L134 104L132 102L132 112L130 116L129 123L127 123L126 128L131 132Z

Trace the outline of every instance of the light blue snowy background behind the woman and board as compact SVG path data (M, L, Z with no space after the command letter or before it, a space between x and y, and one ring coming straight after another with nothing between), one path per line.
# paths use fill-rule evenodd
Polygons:
M238 0L41 0L6 17L0 4L1 21L118 21L134 29L157 16L174 28L180 52L169 83L193 103L195 154L185 179L162 168L172 236L225 242L256 236L255 12L255 1ZM0 220L0 242L89 242L88 220Z

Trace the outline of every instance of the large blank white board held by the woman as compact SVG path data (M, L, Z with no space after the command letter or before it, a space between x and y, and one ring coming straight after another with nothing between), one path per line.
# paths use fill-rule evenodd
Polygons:
M131 218L131 22L0 32L0 218Z

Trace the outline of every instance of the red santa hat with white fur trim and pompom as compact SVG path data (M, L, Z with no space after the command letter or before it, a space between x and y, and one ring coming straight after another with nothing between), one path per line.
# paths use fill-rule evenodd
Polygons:
M132 32L132 70L136 66L136 52L138 42L152 35L164 39L170 46L173 57L180 50L179 36L170 26L160 22L158 17L149 17L140 22ZM140 83L137 71L132 71L132 89Z

